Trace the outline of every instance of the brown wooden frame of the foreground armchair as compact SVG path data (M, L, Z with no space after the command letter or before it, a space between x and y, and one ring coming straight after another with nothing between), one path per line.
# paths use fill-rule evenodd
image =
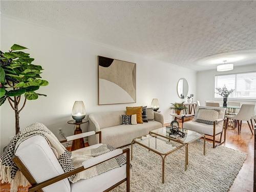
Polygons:
M91 135L94 135L94 134L95 134L95 135L96 135L96 134L99 134L99 141L100 141L100 143L101 143L101 132L100 132L100 131L99 131L99 132L96 132L96 133L94 132L94 133L91 134ZM88 135L88 134L87 134L87 135ZM90 136L90 135L89 135L89 136ZM71 137L72 137L72 136L71 136ZM110 191L110 190L114 189L115 187L117 187L118 185L120 185L121 183L123 183L123 182L125 182L125 181L126 181L126 191L127 191L127 192L130 192L130 148L125 148L125 149L123 150L123 152L122 152L121 154L119 154L119 155L122 155L122 154L126 154L126 178L123 179L123 180L121 180L121 181L119 181L118 183L116 183L115 185L111 186L110 188L104 190L103 192ZM119 155L117 155L117 156L119 156ZM115 157L117 157L117 156L115 156ZM46 187L46 186L48 186L48 185L51 185L51 184L53 184L53 183L56 183L56 182L58 182L58 181L60 181L60 180L62 180L62 179L68 178L68 177L70 177L70 176L72 176L72 175L75 175L75 174L77 174L77 173L79 173L79 172L82 172L83 170L89 169L89 168L91 168L91 167L93 167L93 166L96 166L96 165L98 165L98 164L100 164L100 163L103 163L103 162L108 161L108 160L110 160L110 159L112 159L112 158L115 158L115 157L111 157L111 158L109 158L109 159L106 159L106 160L104 160L104 161L101 161L101 162L99 162L99 163L97 163L97 164L94 164L94 165L92 165L92 166L90 166L90 167L87 167L87 168L84 168L83 166L78 167L78 168L76 168L76 169L74 169L74 170L71 170L70 172L63 173L63 174L61 174L61 175L58 175L58 176L56 176L56 177L53 177L53 178L48 179L48 180L46 180L46 181L43 181L43 182L41 182L41 183L37 183L37 182L35 181L35 179L33 178L33 176L30 174L29 170L27 169L27 167L23 164L23 162L22 162L18 157L14 157L14 158L13 158L13 162L17 165L17 167L19 168L20 172L23 173L23 175L27 178L27 180L29 181L29 183L32 185L31 187L29 187L29 190L28 190L29 192L33 192L33 191L44 192L41 188L44 188L44 187Z

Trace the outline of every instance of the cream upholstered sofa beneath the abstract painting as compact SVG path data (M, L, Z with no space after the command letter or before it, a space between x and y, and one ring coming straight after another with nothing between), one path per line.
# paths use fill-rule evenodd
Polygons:
M163 115L154 112L155 120L137 125L121 125L121 115L126 111L101 112L89 115L89 130L101 131L101 142L120 147L131 144L136 137L147 135L151 130L163 127ZM89 144L99 143L98 137L90 136Z

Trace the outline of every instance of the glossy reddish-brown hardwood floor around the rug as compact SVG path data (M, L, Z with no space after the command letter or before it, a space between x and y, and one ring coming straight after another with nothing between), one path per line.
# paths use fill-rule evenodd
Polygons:
M238 135L237 129L231 130L231 127L228 127L226 142L222 145L247 154L247 159L229 191L253 191L254 136L251 134L247 123L242 124L241 135ZM0 191L10 191L9 184L0 184ZM27 188L19 188L18 191L27 191Z

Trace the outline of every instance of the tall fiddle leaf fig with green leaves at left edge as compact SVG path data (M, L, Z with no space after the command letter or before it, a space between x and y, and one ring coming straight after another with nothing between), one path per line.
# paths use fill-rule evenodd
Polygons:
M15 113L15 132L19 132L19 113L27 100L35 100L41 86L47 86L47 80L41 79L41 66L32 64L34 58L20 50L26 47L14 44L10 51L0 51L0 106L8 101ZM25 98L22 99L22 96Z

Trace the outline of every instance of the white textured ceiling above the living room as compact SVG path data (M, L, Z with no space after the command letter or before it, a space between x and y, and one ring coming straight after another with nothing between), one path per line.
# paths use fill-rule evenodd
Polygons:
M1 12L6 15L195 70L216 68L198 65L196 60L205 56L256 48L253 1L2 1L1 4Z

